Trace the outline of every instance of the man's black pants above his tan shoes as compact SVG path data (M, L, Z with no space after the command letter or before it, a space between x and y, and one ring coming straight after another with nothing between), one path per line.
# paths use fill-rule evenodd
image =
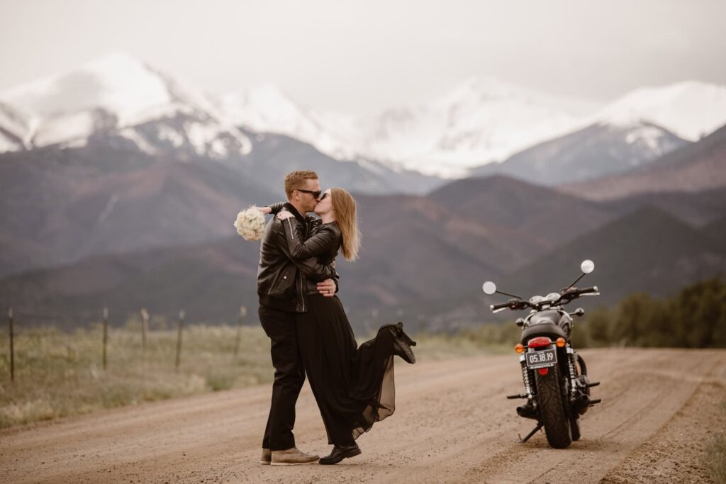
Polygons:
M295 313L260 306L260 323L270 338L274 366L272 403L262 447L283 451L295 447L295 403L305 382L305 370L298 348Z

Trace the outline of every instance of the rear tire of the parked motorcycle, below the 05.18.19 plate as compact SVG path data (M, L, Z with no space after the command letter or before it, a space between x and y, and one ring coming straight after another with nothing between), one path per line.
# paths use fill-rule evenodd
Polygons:
M553 366L545 375L534 372L537 379L537 403L544 425L544 435L552 448L568 448L572 443L570 418L563 399L560 369Z

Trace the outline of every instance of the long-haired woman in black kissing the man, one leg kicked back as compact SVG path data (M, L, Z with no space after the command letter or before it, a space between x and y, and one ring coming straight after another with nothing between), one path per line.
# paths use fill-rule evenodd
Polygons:
M344 189L327 189L315 208L322 224L314 234L302 239L303 228L292 213L277 214L282 220L290 254L295 259L317 257L332 264L338 251L354 261L359 249L356 202ZM413 342L403 325L386 324L378 335L356 348L353 330L337 296L327 298L309 286L309 311L298 313L298 340L310 386L320 408L329 456L320 464L337 464L361 453L355 440L372 425L393 414L395 389L393 355L415 362Z

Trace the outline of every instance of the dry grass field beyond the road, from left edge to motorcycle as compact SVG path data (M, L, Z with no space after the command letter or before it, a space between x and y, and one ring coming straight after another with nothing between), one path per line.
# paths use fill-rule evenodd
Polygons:
M412 335L418 340L415 353L424 361L510 350L518 331L511 326L515 330L511 337L496 327L456 336ZM235 327L185 327L178 372L176 329L151 329L144 351L138 321L110 328L105 370L102 334L100 324L73 332L16 327L15 381L11 382L9 335L1 332L0 428L272 382L269 339L259 326L242 327L237 356Z

